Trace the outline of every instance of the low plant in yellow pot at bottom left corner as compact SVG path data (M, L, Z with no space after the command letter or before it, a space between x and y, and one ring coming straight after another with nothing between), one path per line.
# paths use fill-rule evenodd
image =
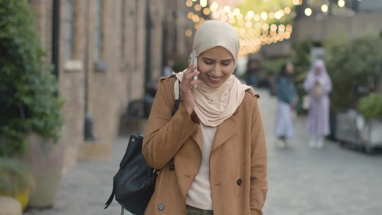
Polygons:
M29 166L16 158L0 157L0 176L0 196L17 199L25 210L34 186Z

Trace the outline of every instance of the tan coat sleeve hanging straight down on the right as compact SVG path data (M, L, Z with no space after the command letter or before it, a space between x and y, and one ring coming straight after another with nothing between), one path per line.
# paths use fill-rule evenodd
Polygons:
M251 127L251 215L263 215L262 207L268 191L267 146L259 103L254 103Z

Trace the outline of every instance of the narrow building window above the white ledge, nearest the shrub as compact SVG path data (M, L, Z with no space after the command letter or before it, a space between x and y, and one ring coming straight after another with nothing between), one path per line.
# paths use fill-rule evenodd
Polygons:
M65 5L65 59L73 59L73 0Z

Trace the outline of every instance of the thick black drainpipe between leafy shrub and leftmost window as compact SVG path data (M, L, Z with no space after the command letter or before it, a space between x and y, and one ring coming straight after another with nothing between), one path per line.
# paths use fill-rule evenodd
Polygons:
M53 74L58 79L60 63L60 0L53 0L52 14L52 64L54 65Z

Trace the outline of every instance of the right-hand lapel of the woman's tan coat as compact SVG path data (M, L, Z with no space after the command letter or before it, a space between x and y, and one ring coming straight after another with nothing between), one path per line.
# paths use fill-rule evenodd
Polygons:
M214 142L212 142L211 153L236 133L238 127L238 124L235 121L237 112L238 109L236 109L235 113L230 118L217 126Z

